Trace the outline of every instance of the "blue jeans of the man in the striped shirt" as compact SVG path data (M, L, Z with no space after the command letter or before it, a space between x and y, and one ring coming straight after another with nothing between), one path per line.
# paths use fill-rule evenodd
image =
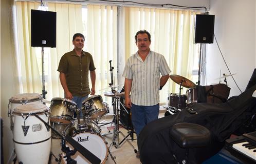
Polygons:
M158 118L159 104L154 106L137 106L132 104L131 111L133 128L138 138L143 127Z

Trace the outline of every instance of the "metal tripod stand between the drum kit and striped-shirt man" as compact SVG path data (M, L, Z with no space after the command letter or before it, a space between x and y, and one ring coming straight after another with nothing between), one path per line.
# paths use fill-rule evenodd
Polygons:
M132 148L134 149L134 152L137 153L137 150L134 148L132 143L127 139L127 137L121 131L119 131L119 117L118 117L118 101L119 101L119 99L120 99L120 97L115 94L114 105L113 105L114 120L115 120L114 136L113 136L111 145L108 147L108 149L111 151L113 145L115 145L116 148L121 147L121 144L119 142L119 134L121 134L124 137L124 140L126 140L132 146Z

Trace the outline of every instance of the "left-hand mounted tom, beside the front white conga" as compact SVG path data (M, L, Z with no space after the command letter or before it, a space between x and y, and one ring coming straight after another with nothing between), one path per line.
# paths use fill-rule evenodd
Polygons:
M52 98L50 105L50 121L58 124L70 124L74 119L77 104L66 98Z

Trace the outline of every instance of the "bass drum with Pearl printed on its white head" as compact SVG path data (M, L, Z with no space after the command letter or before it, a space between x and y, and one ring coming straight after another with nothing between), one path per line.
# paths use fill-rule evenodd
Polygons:
M71 136L80 145L96 155L101 160L101 163L105 163L107 160L108 151L106 141L100 135L100 128L94 121L89 119L86 119L85 123L81 119L80 123L82 124L78 124L78 121L75 121L74 124L65 129L64 134ZM69 143L67 143L66 146L74 150ZM65 154L62 156L65 156ZM72 159L75 159L78 164L90 163L78 151L75 155L72 155ZM67 163L66 158L62 158L62 163Z

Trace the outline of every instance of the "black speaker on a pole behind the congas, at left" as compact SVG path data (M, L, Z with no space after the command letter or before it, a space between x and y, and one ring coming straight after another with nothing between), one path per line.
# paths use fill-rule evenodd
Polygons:
M31 10L31 46L56 47L56 12Z

